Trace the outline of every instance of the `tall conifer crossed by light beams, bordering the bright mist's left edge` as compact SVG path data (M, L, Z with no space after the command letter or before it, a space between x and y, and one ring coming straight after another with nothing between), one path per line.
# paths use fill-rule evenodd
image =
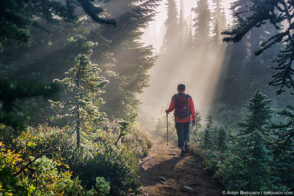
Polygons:
M110 70L119 76L115 81L110 81L105 87L106 93L102 95L106 104L101 109L109 116L131 122L138 117L141 101L137 93L142 93L149 86L150 76L147 72L157 59L153 47L144 46L140 40L144 34L142 29L153 21L158 1L127 0L123 4L112 1L104 6L119 21L116 28L105 28L102 32L111 40L110 48L94 49L94 52L101 49L108 52L107 63L115 65Z

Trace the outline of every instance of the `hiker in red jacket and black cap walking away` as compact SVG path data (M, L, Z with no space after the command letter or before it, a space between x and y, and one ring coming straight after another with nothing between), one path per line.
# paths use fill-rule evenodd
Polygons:
M175 110L175 128L178 134L178 147L181 149L180 156L185 156L189 152L189 125L191 123L190 115L192 115L192 125L196 124L195 108L192 97L185 93L185 85L178 85L178 94L171 98L171 104L166 113Z

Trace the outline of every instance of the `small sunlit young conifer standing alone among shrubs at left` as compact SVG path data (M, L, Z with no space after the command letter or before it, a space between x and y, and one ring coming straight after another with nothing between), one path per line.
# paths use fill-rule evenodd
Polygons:
M92 43L92 46L97 46L97 43ZM96 94L102 93L100 88L103 88L108 81L105 81L104 77L98 76L98 72L101 70L89 59L86 55L78 55L74 67L65 73L69 77L63 80L54 80L64 86L66 97L62 101L51 101L53 107L72 106L69 108L69 115L73 121L69 127L77 133L77 149L80 148L81 138L85 138L86 134L99 129L94 126L94 123L99 124L105 120L105 114L98 111L104 102L101 98L94 101L94 97Z

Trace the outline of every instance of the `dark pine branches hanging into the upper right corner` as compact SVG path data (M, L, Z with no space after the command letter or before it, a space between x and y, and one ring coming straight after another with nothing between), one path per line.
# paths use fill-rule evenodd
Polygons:
M272 33L269 38L261 43L255 55L260 55L276 43L283 43L284 49L280 50L281 52L277 54L277 58L274 60L274 62L277 62L277 66L271 68L276 70L277 73L273 74L274 79L269 82L269 85L280 86L276 92L278 95L285 91L284 87L294 89L294 69L292 66L292 61L294 60L294 36L291 33L294 29L294 16L288 14L293 9L293 5L289 4L286 0L281 2L258 0L251 1L244 6L242 5L244 9L239 10L239 2L241 1L238 1L238 5L232 7L234 16L238 19L239 23L232 30L224 32L225 35L228 35L228 37L224 38L224 41L238 42L255 27L260 28L266 22L272 24L277 30L282 30L280 24L283 21L288 21L289 24L284 30ZM259 43L256 42L257 44Z

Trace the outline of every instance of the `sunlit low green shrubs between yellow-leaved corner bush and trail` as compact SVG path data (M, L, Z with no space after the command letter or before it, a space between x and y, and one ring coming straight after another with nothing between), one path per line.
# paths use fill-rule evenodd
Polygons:
M152 146L147 134L138 126L131 125L130 133L119 136L119 125L108 122L101 133L92 134L81 142L81 148L75 148L75 135L65 133L63 129L51 128L40 125L37 128L29 127L28 131L9 144L17 152L39 154L52 148L47 158L54 160L56 168L63 171L73 171L72 178L77 186L64 191L64 194L88 194L81 190L78 181L87 190L96 186L96 178L104 177L110 183L111 195L139 194L141 186L138 177L138 158L148 153ZM107 128L108 127L108 128ZM1 138L3 141L5 138ZM9 139L8 139L9 140ZM25 157L25 155L24 155ZM78 179L77 179L78 178Z

